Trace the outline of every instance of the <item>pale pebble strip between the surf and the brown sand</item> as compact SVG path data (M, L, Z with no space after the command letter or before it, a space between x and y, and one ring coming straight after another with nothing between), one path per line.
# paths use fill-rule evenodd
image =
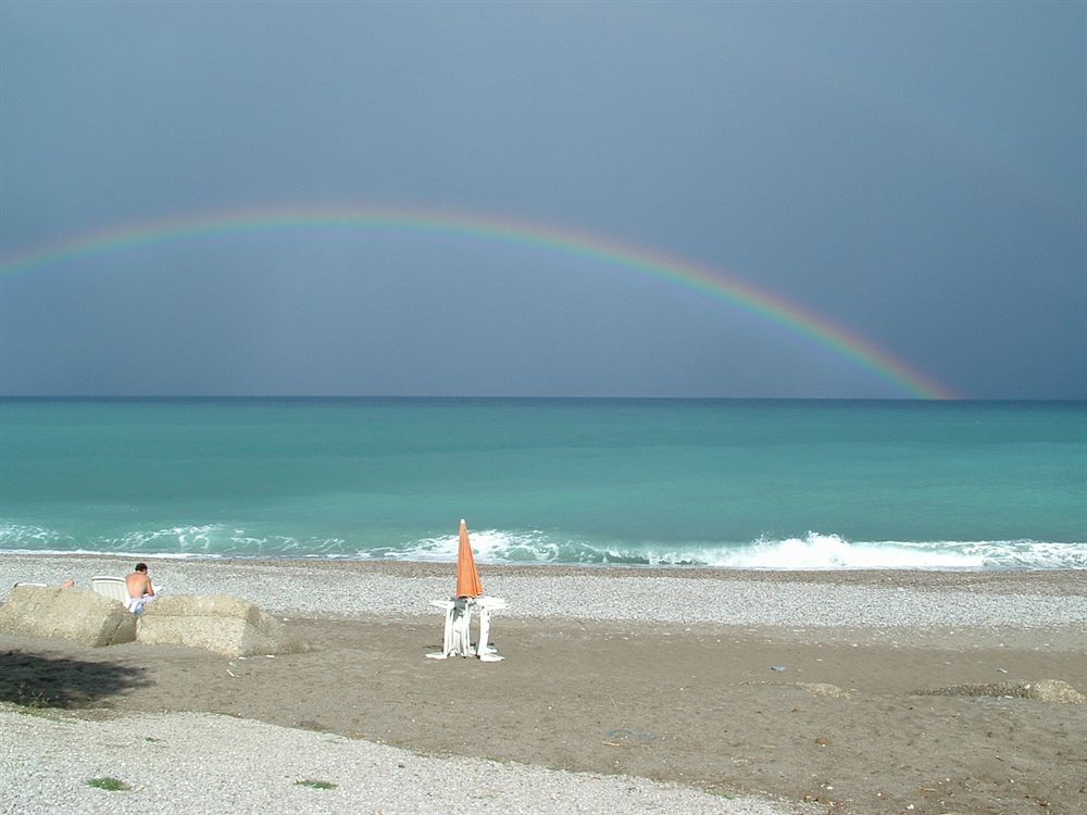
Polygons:
M448 598L453 566L412 570L399 564L312 561L150 560L164 593L230 594L288 616L372 619L435 614L430 601ZM0 555L0 598L17 580L58 585L75 576L89 587L96 574L123 575L128 560L46 555ZM430 573L430 574L428 574ZM484 573L487 593L504 598L501 614L533 619L654 620L666 624L746 626L945 628L1038 627L1087 623L1087 573L1070 573L1067 593L1010 592L976 587L933 590L916 586L760 579L557 575L548 569ZM924 575L922 574L922 577Z

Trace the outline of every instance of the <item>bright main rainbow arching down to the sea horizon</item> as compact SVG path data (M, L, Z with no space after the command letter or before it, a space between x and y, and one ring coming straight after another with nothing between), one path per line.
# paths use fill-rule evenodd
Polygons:
M619 266L704 292L732 306L783 326L792 334L823 346L891 383L911 398L958 398L944 385L924 376L862 337L797 303L720 271L601 237L493 215L396 206L295 206L197 214L129 224L29 249L0 261L0 278L76 259L171 241L217 235L342 228L426 231L471 237L536 247L558 254L575 255Z

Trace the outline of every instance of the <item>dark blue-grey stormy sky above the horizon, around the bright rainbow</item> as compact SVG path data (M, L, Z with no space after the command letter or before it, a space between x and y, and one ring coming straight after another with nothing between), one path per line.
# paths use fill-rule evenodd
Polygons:
M0 5L0 253L405 203L729 272L955 391L1087 398L1080 4ZM660 280L437 235L0 276L0 393L901 396Z

